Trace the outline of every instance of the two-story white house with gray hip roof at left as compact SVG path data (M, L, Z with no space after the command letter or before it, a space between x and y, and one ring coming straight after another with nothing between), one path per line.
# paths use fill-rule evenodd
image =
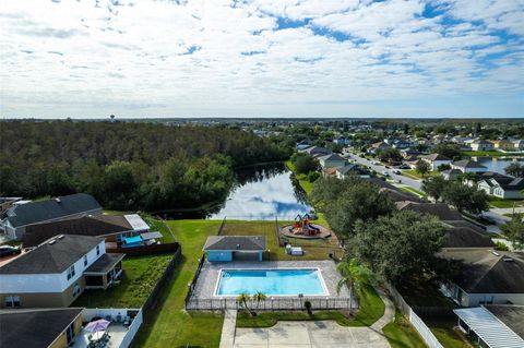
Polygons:
M60 235L0 267L0 308L68 307L85 289L106 289L124 254L107 254L104 238Z

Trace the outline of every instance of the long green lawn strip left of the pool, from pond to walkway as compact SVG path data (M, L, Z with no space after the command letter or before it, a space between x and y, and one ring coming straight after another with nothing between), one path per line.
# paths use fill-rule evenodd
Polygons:
M160 296L154 316L144 323L133 347L218 347L223 314L183 311L188 284L196 271L202 247L215 235L222 221L167 221L176 240L182 245L182 262Z

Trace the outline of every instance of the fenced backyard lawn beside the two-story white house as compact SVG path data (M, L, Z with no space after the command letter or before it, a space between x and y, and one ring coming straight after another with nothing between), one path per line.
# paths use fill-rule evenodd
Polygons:
M86 290L72 307L140 308L144 304L172 255L128 256L121 283L107 290Z

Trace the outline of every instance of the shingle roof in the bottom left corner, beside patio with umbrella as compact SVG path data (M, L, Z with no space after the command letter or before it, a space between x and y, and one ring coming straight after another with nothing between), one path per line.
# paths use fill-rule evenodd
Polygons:
M0 347L49 347L83 309L0 311Z

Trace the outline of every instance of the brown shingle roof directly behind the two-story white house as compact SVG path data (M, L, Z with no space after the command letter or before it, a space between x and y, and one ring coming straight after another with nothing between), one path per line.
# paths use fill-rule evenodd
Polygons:
M133 230L123 215L95 215L27 226L24 248L36 247L58 235L104 236Z

